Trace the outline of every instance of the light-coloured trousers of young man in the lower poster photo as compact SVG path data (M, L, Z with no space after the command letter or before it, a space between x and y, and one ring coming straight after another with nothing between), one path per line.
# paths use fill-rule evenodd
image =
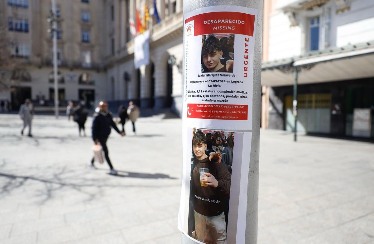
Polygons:
M220 215L208 217L195 211L195 238L205 242L206 231L212 237L212 244L226 244L225 214L222 212Z

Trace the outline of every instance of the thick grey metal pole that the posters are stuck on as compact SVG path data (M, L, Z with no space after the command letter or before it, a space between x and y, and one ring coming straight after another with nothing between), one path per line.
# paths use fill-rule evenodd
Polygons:
M260 144L260 111L261 111L261 54L262 54L262 15L263 0L184 0L183 12L188 13L201 7L233 5L249 7L258 10L255 46L254 46L254 70L253 70L253 109L251 153L248 155L249 175L247 192L247 210L245 226L245 244L257 244L257 218L258 218L258 167ZM183 32L185 33L185 32ZM184 53L184 52L183 52ZM184 61L183 61L184 62ZM183 75L184 77L184 75ZM243 130L242 130L243 131ZM196 244L186 235L182 234L182 244ZM230 243L231 244L231 243ZM241 244L241 243L240 243Z

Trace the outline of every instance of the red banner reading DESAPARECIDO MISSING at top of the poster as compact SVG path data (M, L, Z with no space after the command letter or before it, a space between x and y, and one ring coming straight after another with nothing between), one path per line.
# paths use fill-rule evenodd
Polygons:
M242 34L253 37L255 15L238 12L202 13L186 19L195 21L194 36L216 33Z

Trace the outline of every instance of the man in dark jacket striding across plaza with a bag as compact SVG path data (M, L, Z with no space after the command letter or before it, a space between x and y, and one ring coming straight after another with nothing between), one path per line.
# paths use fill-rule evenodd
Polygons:
M108 111L108 104L105 101L99 102L99 112L93 114L93 121L92 121L92 140L97 145L100 143L102 146L102 150L105 154L105 160L107 160L107 163L110 167L110 174L116 175L117 171L114 170L113 165L110 162L109 159L109 152L107 147L107 140L110 134L110 126L115 129L118 134L124 136L125 134L123 132L120 132L117 128L116 123L113 121L112 113ZM91 166L94 168L93 162L95 161L95 158L92 158L91 160Z

